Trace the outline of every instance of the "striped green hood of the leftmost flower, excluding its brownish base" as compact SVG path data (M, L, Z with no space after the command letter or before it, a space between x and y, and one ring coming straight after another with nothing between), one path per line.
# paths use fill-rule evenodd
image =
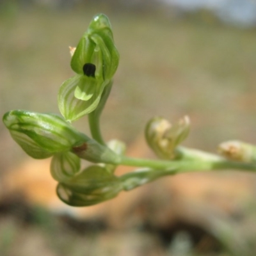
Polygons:
M13 140L29 156L37 159L68 151L84 140L83 134L54 114L13 110L3 116L3 122Z

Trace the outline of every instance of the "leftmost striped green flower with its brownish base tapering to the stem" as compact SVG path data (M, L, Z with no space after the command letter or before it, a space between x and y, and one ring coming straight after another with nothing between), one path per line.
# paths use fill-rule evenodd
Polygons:
M13 110L3 116L3 122L13 140L33 158L44 159L58 153L72 152L93 163L118 164L120 161L113 150L77 131L55 114ZM73 156L68 156L68 159L69 163L77 161ZM63 166L67 167L67 164Z

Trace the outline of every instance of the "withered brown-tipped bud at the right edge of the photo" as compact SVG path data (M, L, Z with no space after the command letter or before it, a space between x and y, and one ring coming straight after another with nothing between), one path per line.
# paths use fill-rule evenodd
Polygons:
M256 163L256 147L243 141L225 141L218 147L221 156L244 163Z

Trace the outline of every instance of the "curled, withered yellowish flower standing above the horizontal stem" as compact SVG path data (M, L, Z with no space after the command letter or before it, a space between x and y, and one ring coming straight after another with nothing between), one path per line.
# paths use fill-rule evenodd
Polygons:
M173 159L175 148L188 136L189 125L188 116L184 116L174 125L164 118L153 118L148 122L145 129L147 143L158 157Z

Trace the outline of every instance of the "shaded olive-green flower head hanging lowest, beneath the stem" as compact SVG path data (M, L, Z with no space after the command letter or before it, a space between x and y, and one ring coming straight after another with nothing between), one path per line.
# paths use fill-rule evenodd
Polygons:
M100 166L90 166L68 182L58 184L57 195L68 205L88 206L114 198L121 190L117 177Z

